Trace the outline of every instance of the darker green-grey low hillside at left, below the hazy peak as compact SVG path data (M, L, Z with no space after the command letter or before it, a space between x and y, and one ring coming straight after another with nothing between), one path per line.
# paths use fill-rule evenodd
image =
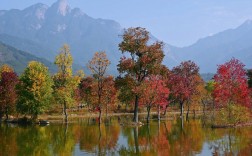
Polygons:
M17 50L9 45L0 42L0 66L8 64L15 69L18 74L21 74L27 67L28 62L39 61L49 68L51 73L57 71L56 66L43 58L38 58L27 52Z

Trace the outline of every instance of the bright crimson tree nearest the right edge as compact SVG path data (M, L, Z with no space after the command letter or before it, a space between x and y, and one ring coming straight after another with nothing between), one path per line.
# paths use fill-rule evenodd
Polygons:
M229 108L228 118L231 119L231 106L241 105L250 107L251 101L244 64L232 58L225 64L219 65L214 76L214 99L218 107Z

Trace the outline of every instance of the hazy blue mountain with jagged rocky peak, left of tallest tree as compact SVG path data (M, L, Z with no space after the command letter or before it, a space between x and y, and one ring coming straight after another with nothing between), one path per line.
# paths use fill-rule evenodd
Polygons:
M66 0L50 7L35 4L24 10L0 11L0 41L50 61L67 43L76 64L86 65L96 51L106 51L116 66L122 30L113 20L94 19L78 8L71 9Z

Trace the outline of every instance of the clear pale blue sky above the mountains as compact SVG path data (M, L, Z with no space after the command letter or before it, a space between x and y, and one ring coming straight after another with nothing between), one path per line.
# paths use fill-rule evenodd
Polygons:
M184 47L198 39L236 28L252 19L251 0L67 0L93 18L111 19L123 28L144 27L165 43ZM0 10L24 9L56 0L0 0Z

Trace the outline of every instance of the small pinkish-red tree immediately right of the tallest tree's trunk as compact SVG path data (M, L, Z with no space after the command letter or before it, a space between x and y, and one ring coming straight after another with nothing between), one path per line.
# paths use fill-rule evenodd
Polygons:
M168 104L169 89L161 76L149 76L142 83L140 92L140 104L147 108L147 122L150 119L150 110L152 107L158 107L158 120L160 120L160 108L165 108Z

